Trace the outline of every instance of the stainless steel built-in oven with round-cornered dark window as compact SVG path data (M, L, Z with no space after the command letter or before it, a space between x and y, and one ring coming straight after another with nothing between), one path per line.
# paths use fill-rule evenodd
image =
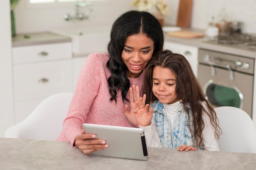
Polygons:
M233 106L252 117L254 59L199 49L198 80L213 107Z

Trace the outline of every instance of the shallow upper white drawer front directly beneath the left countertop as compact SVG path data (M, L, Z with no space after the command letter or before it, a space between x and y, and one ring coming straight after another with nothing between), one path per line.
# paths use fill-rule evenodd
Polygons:
M12 48L13 64L72 58L71 42Z

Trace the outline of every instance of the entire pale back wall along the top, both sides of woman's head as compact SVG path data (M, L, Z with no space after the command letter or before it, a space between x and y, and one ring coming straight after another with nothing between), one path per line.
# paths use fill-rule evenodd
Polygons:
M112 24L122 12L133 8L132 0L109 0L110 3L94 5L89 20L66 22L64 13L72 13L73 5L62 8L27 8L25 0L15 9L17 33L47 31L52 28L88 26L91 24ZM175 25L179 0L167 0L171 15L166 16L166 24ZM225 8L227 19L242 21L244 33L256 33L255 0L193 0L191 27L205 29L211 16L218 18Z

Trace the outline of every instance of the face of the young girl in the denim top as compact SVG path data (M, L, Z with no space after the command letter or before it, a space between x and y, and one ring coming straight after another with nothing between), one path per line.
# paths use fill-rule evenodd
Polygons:
M156 66L153 69L153 94L163 104L172 104L179 99L176 94L176 76L169 68Z

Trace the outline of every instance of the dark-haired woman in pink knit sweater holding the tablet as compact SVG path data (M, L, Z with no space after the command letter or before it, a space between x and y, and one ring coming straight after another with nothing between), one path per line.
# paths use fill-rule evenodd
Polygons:
M97 135L84 134L83 123L135 127L124 106L130 105L130 85L142 87L148 62L163 50L158 20L145 11L128 11L113 23L108 53L92 53L85 61L57 141L70 142L90 154L108 147ZM130 106L130 111L134 105ZM128 107L126 107L128 109Z

